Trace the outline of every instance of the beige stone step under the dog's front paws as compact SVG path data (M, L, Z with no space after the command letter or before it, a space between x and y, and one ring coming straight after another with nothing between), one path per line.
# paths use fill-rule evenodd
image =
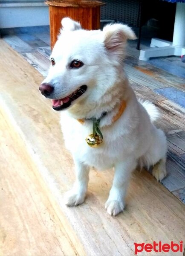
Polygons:
M64 147L59 113L52 111L50 100L38 90L42 79L17 52L0 41L0 106L37 166L38 177L77 253L134 255L134 242L183 240L184 205L145 170L133 173L126 209L117 217L109 216L104 209L112 170L92 170L85 203L72 208L64 205L64 192L74 181L74 165ZM142 255L149 253L143 251Z

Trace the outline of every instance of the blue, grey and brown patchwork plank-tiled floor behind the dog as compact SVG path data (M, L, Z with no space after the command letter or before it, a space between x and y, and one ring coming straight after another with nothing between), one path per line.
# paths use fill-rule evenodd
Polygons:
M10 30L3 38L46 76L51 53L49 28L24 30ZM150 38L144 35L141 48L149 44ZM133 90L157 105L162 113L156 125L165 131L169 147L168 177L162 184L185 203L185 63L174 56L139 61L136 41L129 42L127 52L125 70Z

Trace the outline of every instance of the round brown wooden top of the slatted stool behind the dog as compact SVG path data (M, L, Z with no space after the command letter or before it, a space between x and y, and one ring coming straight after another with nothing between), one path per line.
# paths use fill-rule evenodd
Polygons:
M84 7L92 8L96 6L102 6L105 3L98 0L47 0L45 2L50 6L60 6L60 7Z

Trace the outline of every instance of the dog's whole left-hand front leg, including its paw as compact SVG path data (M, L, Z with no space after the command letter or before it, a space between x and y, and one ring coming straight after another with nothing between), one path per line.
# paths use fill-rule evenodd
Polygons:
M67 206L77 206L84 202L89 182L89 171L88 166L75 160L76 180L72 189L66 192L65 204Z

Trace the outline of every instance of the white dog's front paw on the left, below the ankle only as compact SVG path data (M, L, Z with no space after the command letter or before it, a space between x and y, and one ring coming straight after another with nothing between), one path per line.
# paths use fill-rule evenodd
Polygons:
M85 200L85 195L79 194L70 190L65 195L65 205L67 206L77 206L82 204Z

